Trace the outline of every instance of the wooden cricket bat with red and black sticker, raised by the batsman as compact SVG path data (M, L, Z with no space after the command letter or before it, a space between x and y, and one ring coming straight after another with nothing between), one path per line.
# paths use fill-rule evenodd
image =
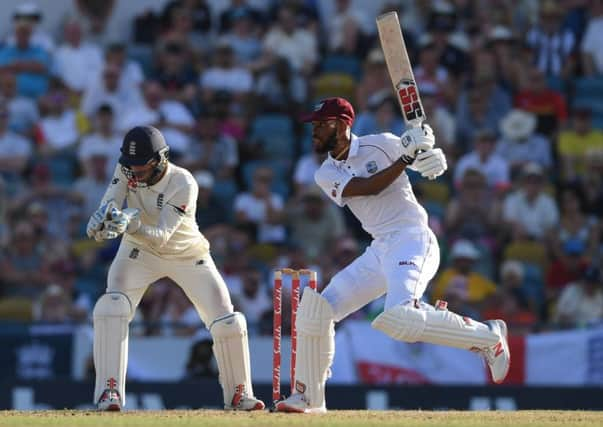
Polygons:
M412 73L408 52L402 37L402 29L396 12L387 12L377 17L377 30L385 56L387 71L394 92L402 109L407 127L419 127L425 120L419 88Z

